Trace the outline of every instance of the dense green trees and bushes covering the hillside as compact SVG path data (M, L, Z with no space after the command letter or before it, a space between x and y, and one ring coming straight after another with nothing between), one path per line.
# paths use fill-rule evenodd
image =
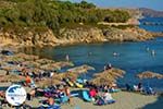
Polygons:
M50 28L58 34L66 25L124 23L129 17L127 11L99 9L86 1L72 3L59 0L0 0L0 27L7 29Z

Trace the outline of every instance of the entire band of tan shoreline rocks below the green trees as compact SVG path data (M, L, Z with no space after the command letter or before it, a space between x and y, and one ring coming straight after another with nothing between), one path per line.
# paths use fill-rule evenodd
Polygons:
M60 37L54 35L51 29L45 32L27 31L16 33L14 31L0 31L1 46L28 47L28 46L59 46L79 43L103 43L103 41L143 41L152 39L155 34L138 27L128 27L125 29L114 27L76 27L61 28Z

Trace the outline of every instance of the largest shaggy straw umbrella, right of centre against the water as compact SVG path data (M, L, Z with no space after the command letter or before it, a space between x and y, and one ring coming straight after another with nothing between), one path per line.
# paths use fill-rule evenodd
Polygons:
M116 82L116 78L123 77L123 74L125 74L125 71L113 68L95 74L95 78L90 82L96 85L111 85Z

